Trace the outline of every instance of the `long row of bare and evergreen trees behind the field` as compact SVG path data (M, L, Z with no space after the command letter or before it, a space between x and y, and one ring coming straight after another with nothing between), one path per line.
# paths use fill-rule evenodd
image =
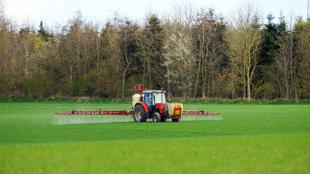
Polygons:
M174 1L143 23L78 9L64 25L35 29L8 18L0 0L0 96L125 98L144 84L184 98L309 99L310 20L276 19L251 1L226 18Z

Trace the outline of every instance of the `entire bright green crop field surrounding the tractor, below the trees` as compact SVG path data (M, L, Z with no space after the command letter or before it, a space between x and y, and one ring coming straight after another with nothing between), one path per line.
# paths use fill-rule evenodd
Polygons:
M309 173L310 105L203 105L179 123L55 115L128 104L0 103L0 173Z

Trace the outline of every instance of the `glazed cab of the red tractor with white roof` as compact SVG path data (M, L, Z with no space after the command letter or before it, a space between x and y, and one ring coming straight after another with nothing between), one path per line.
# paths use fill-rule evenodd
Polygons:
M157 110L157 103L166 103L165 94L166 91L161 90L152 90L152 91L143 91L143 100L150 114Z

